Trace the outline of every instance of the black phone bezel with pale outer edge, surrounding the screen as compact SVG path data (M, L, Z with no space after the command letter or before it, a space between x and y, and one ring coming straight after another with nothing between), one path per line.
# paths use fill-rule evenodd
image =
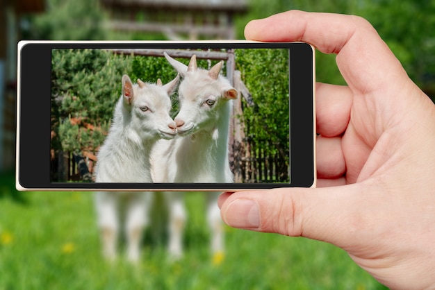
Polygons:
M50 182L52 49L290 49L290 183ZM22 41L18 44L16 187L32 191L238 191L315 187L315 49L304 42ZM292 98L302 94L304 98ZM306 96L308 95L308 96ZM47 137L38 137L47 136Z

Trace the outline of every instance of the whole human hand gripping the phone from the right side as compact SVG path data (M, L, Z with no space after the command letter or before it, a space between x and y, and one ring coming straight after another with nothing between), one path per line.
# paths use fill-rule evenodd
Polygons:
M289 11L245 36L336 53L348 86L316 87L318 188L224 193L224 222L327 241L393 289L435 288L434 103L361 17Z

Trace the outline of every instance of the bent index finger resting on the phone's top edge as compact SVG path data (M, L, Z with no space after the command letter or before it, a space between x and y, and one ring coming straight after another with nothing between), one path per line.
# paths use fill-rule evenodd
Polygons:
M245 37L308 42L323 53L336 53L338 69L354 93L368 94L386 80L407 78L375 28L361 17L291 10L249 22Z

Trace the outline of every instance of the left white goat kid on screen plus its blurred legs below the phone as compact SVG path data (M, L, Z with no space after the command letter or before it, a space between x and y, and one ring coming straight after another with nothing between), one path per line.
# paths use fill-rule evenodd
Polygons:
M122 96L116 104L112 125L98 153L95 182L152 182L149 155L158 139L171 139L177 126L170 117L171 101L179 76L167 85L138 79L133 85L122 76ZM140 257L142 230L147 224L151 194L101 191L95 196L97 221L104 255L115 259L121 221L131 262ZM121 216L124 215L124 216Z

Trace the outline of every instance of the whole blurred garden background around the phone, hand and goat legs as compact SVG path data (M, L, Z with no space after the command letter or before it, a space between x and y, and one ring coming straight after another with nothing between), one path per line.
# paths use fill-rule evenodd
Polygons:
M365 17L434 100L435 1L1 0L0 289L382 289L343 250L318 241L225 228L225 255L208 257L200 194L186 201L183 259L168 261L164 245L145 236L138 267L107 264L92 194L15 190L19 40L243 39L249 20L290 9ZM318 81L345 84L335 56L316 57Z

